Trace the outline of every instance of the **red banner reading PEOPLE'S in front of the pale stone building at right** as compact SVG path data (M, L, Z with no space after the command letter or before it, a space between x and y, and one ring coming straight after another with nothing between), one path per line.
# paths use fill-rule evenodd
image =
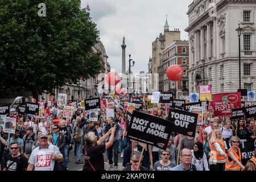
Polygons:
M232 109L241 107L241 92L213 94L214 116L232 116Z

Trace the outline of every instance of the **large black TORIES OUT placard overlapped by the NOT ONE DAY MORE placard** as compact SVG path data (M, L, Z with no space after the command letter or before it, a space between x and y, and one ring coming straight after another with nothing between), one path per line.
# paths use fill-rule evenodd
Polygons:
M198 114L171 108L168 121L174 122L172 131L195 137Z

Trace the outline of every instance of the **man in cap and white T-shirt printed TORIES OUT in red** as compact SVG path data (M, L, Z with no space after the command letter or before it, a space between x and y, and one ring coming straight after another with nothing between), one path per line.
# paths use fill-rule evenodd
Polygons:
M27 171L53 171L55 160L58 162L63 161L63 155L57 146L48 144L48 135L41 133L39 135L39 147L36 147L30 155L28 160Z

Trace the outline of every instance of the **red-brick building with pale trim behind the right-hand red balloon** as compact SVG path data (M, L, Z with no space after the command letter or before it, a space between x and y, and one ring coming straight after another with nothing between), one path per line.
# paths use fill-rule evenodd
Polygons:
M188 68L189 68L189 44L187 40L175 40L162 52L163 58L158 67L159 91L173 92L175 97L188 95ZM171 81L166 75L170 65L180 65L183 68L183 78L179 81Z

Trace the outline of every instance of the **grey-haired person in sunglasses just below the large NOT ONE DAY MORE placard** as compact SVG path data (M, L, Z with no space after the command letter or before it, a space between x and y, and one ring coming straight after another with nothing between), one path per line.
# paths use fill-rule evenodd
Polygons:
M141 166L142 164L142 159L143 155L141 158L141 162L139 162L139 158L141 157L141 152L139 151L134 151L133 154L131 154L131 160L130 163L127 167L123 168L122 171L148 171L146 167Z

